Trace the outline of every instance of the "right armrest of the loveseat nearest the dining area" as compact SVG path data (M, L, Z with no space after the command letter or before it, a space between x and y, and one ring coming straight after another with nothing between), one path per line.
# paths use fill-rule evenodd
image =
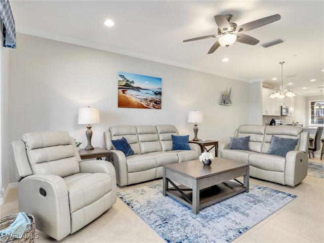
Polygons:
M289 151L286 154L285 184L295 186L307 175L308 156L300 150Z

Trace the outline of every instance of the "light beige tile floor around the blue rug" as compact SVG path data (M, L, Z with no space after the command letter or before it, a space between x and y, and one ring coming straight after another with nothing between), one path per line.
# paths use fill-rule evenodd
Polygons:
M324 163L312 158L310 161ZM139 185L117 188L131 189ZM298 197L232 242L324 242L324 179L307 176L295 187L250 179L251 183L285 191ZM0 207L0 216L18 213L17 189L10 190L6 202ZM36 230L36 242L56 240ZM61 242L165 242L119 198L98 219L61 240Z

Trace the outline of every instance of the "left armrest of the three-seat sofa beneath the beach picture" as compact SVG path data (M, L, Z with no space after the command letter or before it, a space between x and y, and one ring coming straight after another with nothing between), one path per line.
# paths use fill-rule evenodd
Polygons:
M116 181L119 186L127 185L127 164L126 156L120 150L110 150L110 162L115 168Z

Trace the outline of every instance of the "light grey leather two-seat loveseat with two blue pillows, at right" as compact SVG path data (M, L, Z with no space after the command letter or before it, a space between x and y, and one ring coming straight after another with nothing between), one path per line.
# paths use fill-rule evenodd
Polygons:
M229 149L229 143L220 144L218 156L248 163L251 177L282 185L295 186L306 177L309 133L301 127L241 125L235 130L234 137L247 136L249 150ZM272 136L298 142L286 156L268 154Z

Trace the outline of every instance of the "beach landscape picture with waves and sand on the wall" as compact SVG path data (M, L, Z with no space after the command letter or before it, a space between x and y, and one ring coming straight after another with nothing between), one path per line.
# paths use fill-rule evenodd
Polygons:
M118 72L118 107L161 109L162 78Z

